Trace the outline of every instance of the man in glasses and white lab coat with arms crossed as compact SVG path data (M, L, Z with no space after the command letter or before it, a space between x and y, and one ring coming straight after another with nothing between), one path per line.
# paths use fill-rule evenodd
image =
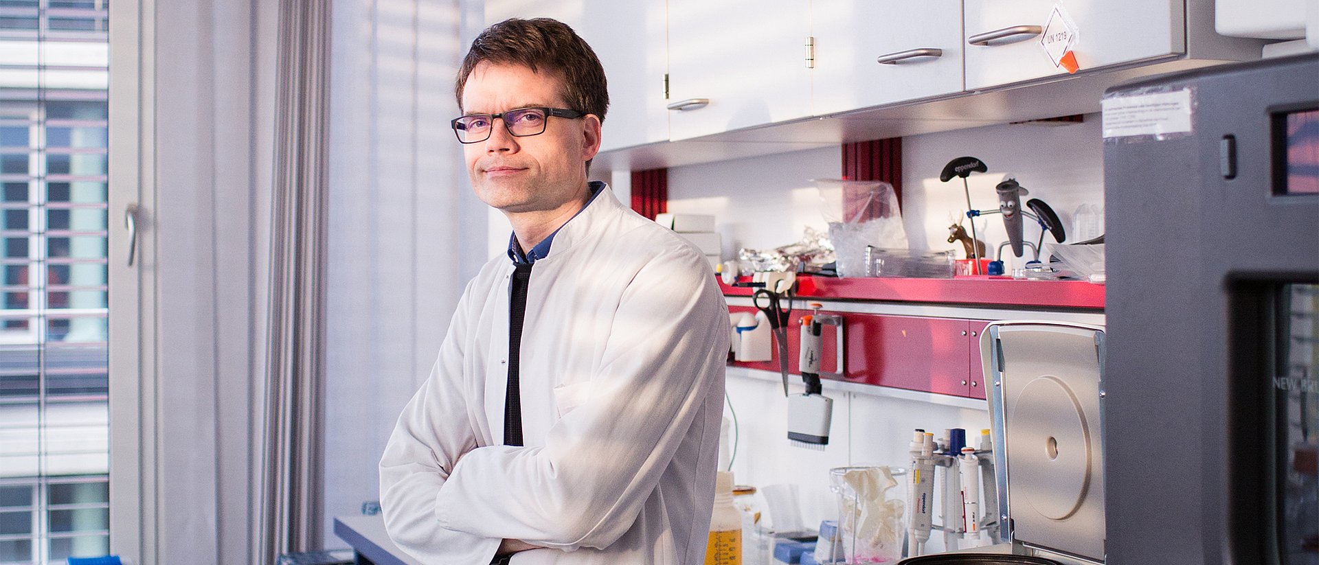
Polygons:
M587 182L608 94L568 26L491 26L455 91L513 237L385 448L389 536L426 564L703 562L728 352L710 265Z

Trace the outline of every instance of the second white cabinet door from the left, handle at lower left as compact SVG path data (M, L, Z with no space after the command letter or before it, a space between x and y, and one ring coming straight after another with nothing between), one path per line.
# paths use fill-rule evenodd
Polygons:
M809 0L669 0L671 140L811 115Z

